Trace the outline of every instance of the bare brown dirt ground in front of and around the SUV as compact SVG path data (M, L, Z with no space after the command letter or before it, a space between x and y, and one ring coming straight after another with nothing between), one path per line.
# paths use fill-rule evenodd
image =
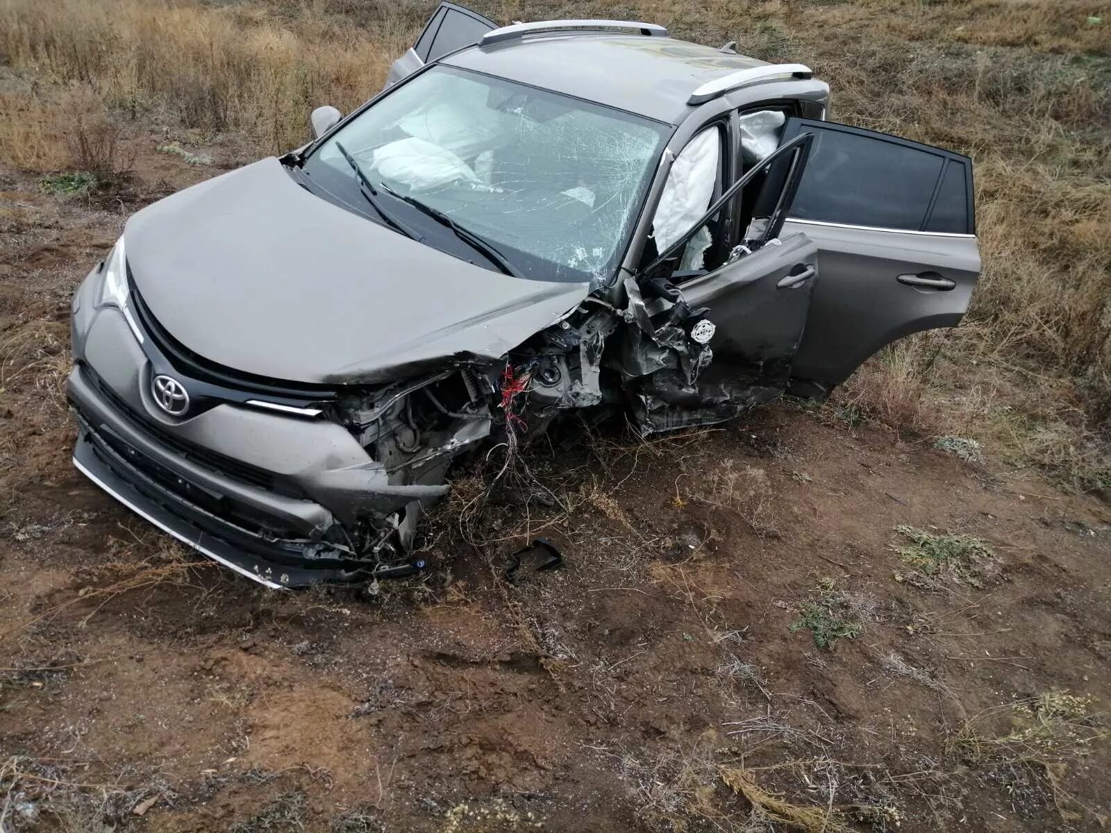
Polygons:
M476 513L463 472L430 573L369 593L263 591L102 495L69 461L70 294L128 212L244 161L166 141L96 198L0 171L0 829L1111 815L1108 503L851 409L553 441L530 451L540 510ZM915 530L939 538L900 552ZM507 581L534 534L563 568Z

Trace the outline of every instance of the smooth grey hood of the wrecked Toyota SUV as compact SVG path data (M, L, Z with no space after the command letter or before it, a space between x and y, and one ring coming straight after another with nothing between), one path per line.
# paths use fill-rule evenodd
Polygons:
M496 360L590 292L409 240L309 193L273 158L143 209L124 234L139 293L174 339L294 382L381 382L449 358Z

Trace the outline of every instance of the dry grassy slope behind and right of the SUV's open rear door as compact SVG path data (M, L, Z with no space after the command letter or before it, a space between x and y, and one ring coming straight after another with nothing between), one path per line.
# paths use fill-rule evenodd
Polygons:
M843 395L899 431L974 436L1079 490L1111 483L1097 428L1111 418L1111 31L1091 13L1075 0L702 0L662 21L809 63L834 120L973 157L984 268L965 333L900 342ZM939 344L951 375L1034 373L1002 391L1001 418L939 384Z

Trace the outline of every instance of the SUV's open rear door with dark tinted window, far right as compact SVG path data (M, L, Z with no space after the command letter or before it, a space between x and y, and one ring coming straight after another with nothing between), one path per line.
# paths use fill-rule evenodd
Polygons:
M822 280L794 359L794 392L821 395L865 359L921 330L954 327L980 274L968 157L827 121L814 136L783 233L818 247Z

